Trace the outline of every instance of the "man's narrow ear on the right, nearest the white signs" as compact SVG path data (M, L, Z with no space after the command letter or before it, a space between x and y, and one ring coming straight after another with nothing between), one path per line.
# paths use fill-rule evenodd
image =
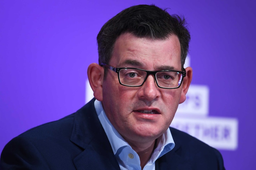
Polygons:
M187 67L186 69L186 77L183 78L182 81L182 91L181 91L181 98L179 103L183 103L186 100L186 94L187 91L189 90L189 85L192 81L192 68Z

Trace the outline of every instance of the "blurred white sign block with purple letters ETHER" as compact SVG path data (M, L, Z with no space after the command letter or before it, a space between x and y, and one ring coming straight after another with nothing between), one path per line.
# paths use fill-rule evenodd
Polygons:
M170 125L218 148L235 150L238 146L238 121L233 118L174 117Z

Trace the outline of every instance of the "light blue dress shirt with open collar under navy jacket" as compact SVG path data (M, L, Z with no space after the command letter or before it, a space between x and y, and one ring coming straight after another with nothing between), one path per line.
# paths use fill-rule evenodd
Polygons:
M100 101L95 100L94 106L99 117L99 121L104 128L108 140L110 141L113 153L119 163L121 170L141 170L140 158L132 147L124 140L119 132L110 123ZM170 129L159 137L157 140L159 144L152 153L148 163L144 166L143 170L155 170L155 161L163 156L165 153L172 150L175 146Z

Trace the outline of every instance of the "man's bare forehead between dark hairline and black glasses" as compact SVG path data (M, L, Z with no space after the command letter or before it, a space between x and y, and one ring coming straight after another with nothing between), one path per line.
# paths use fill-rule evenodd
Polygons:
M148 70L161 70L165 67L181 69L178 37L170 35L166 40L152 40L124 33L116 39L110 65Z

